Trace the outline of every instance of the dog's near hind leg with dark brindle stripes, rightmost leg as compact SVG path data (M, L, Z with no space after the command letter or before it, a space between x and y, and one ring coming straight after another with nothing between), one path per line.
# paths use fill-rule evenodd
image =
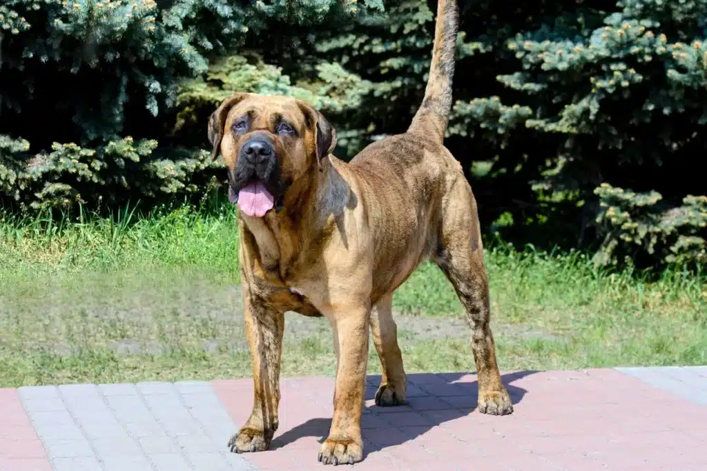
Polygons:
M467 313L472 352L479 378L479 412L513 412L508 391L501 383L496 345L489 326L489 280L476 201L466 179L460 177L444 198L439 248L435 261L452 282Z

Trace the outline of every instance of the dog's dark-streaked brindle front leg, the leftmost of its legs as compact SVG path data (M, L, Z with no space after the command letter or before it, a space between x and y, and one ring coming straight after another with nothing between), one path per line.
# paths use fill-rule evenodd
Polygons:
M285 326L284 312L264 299L246 297L245 336L252 359L253 410L245 425L228 442L230 451L264 451L278 427L280 362Z

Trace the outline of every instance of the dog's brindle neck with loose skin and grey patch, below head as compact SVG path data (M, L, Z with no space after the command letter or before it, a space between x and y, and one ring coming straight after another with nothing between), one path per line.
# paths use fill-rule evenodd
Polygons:
M334 158L322 159L321 170L315 165L294 181L279 212L269 211L264 217L241 213L241 220L258 249L258 254L252 255L259 258L259 264L272 281L286 282L291 266L299 262L299 255L320 245L332 225L341 227L344 211L351 207L355 196L334 165Z

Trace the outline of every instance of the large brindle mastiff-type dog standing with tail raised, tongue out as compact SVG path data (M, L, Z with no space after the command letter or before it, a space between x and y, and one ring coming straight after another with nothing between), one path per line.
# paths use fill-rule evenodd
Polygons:
M371 143L349 163L332 155L335 129L290 97L235 93L209 118L228 195L238 205L245 333L254 405L228 442L267 450L278 427L284 314L325 316L334 330L334 413L318 458L363 460L368 332L382 364L375 404L405 403L406 376L392 295L432 259L460 298L471 328L479 412L513 412L489 328L489 285L477 203L443 145L452 106L458 6L439 0L433 58L409 129Z

